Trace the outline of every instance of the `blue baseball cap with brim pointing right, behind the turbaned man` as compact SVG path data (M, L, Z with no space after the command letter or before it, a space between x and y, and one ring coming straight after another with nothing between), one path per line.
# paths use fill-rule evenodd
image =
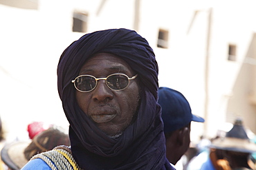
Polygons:
M174 89L159 87L158 103L162 107L164 133L170 133L188 125L191 121L203 123L205 120L192 114L188 100Z

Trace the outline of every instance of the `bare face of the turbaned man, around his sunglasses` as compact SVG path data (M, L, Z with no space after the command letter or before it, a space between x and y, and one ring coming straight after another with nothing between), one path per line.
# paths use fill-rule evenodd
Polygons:
M118 56L100 53L84 63L79 75L89 74L96 78L105 78L115 73L129 77L136 74ZM76 100L82 111L105 134L118 136L130 125L136 113L139 100L138 78L129 81L128 87L120 91L109 89L105 80L100 80L91 92L76 91Z

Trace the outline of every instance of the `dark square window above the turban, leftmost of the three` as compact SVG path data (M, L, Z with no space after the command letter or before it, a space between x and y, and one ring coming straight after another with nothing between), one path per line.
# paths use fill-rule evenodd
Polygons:
M87 31L88 14L74 12L73 13L73 32Z

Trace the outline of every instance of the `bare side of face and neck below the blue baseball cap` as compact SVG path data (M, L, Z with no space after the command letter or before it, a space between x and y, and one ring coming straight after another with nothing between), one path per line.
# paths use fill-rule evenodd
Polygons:
M166 135L165 138L167 160L176 164L190 147L190 124L173 131L170 136Z

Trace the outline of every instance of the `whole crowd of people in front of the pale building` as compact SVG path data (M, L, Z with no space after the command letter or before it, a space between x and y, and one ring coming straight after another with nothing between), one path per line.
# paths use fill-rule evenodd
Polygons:
M50 126L5 145L8 169L256 169L241 120L204 150L192 147L191 122L205 120L181 92L158 87L154 51L134 30L100 30L71 43L57 65L57 89L68 134Z

